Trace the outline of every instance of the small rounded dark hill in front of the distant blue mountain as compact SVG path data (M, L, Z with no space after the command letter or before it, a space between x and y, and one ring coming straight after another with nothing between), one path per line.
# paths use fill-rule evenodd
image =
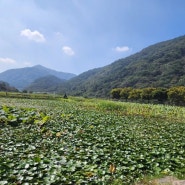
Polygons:
M54 75L48 75L41 78L37 78L28 87L25 88L27 91L33 92L55 92L57 86L66 80L57 78Z

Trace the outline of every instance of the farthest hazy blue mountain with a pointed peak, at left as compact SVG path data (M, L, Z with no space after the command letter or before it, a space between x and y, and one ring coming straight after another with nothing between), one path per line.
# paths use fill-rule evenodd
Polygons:
M19 69L10 69L5 72L0 73L0 80L8 82L11 86L22 90L29 86L34 80L40 77L54 75L60 79L70 79L75 77L75 74L64 73L55 70L48 69L41 65L36 65L33 67L25 67Z

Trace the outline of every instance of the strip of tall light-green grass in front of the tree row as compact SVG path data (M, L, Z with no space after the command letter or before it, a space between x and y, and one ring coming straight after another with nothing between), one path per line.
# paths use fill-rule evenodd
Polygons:
M96 108L103 111L117 111L122 115L138 115L180 122L185 121L185 107L99 100L97 101Z

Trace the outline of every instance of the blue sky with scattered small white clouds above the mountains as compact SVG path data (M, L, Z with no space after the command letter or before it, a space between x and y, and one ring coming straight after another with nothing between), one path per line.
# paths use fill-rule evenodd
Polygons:
M182 35L184 0L0 0L0 72L80 74Z

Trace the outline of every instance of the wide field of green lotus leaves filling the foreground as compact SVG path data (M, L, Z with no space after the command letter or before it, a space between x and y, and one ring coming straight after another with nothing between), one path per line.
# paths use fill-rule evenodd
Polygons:
M185 178L185 108L0 98L0 184L134 184Z

